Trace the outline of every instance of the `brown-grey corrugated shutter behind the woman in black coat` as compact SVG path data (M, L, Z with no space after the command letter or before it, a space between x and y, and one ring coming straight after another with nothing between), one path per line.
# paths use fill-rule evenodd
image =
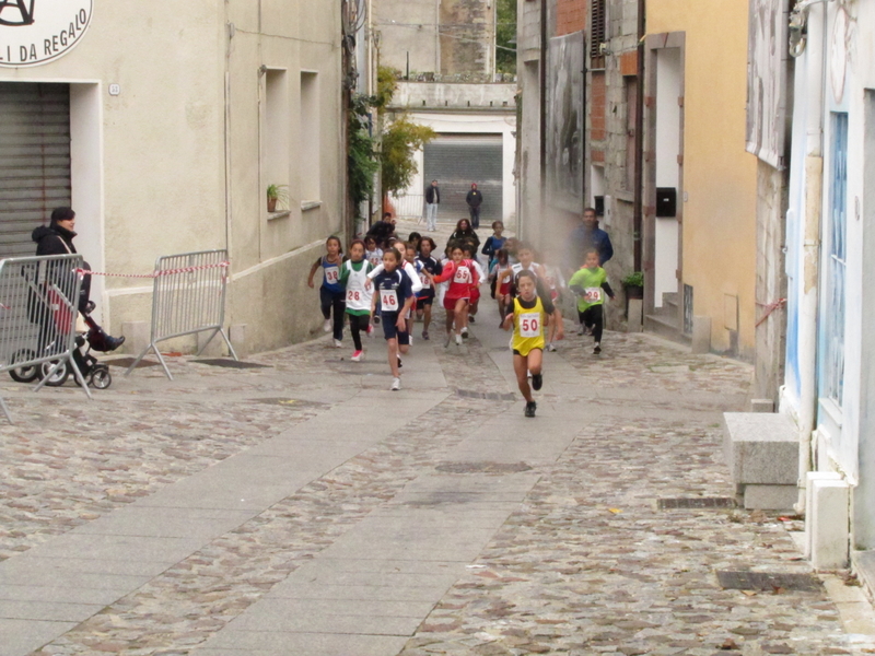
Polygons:
M70 189L69 85L0 82L0 257L33 255Z

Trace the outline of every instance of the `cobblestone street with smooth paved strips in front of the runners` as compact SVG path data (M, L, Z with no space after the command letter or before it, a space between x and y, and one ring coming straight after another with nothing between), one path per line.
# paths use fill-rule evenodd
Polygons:
M748 365L569 325L525 419L487 301L462 352L417 327L399 393L382 336L116 368L93 402L10 380L0 656L875 653L836 576L719 583L810 574L801 522L665 507L733 496Z

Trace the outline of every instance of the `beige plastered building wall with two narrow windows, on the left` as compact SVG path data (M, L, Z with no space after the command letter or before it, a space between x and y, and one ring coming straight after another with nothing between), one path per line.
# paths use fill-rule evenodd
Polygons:
M88 129L74 126L72 136L74 152L79 139L97 154L79 174L74 162L73 175L74 199L100 197L77 226L94 268L141 273L161 255L229 247L226 323L248 325L248 349L281 345L318 326L304 269L315 259L312 244L343 225L340 3L313 11L305 2L187 0L174 5L173 20L149 4L97 3L89 32L65 57L0 69L3 81L95 90L94 106L75 117ZM261 133L261 66L284 69L288 83L292 202L288 215L273 219L265 201L273 180L261 165L270 139ZM320 116L320 204L303 212L300 178L313 164L300 154L302 70L317 74ZM120 94L109 95L109 84ZM122 321L149 320L150 286L112 278L105 288L95 300L113 332ZM268 312L262 303L299 309Z

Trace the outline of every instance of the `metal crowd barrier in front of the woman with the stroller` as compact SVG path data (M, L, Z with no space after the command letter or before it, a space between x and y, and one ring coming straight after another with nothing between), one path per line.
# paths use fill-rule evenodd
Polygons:
M22 382L42 376L38 390L69 366L91 398L73 360L82 265L81 255L0 260L0 373L13 371ZM2 398L0 408L12 423Z

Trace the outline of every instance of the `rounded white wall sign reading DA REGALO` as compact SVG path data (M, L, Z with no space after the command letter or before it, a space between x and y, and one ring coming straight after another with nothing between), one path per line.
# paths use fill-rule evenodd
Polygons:
M48 63L75 46L93 0L0 0L0 67Z

